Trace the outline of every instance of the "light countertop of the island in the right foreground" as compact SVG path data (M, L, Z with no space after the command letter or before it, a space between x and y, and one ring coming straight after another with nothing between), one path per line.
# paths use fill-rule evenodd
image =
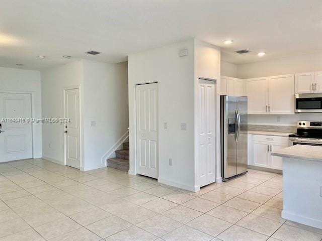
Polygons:
M272 156L322 162L322 147L295 145L271 153Z

